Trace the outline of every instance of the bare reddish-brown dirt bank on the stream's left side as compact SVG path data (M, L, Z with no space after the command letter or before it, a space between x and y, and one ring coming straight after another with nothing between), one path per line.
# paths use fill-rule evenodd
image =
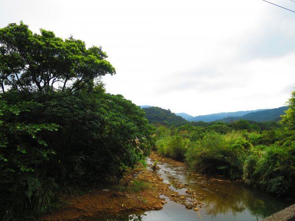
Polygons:
M121 181L122 187L129 185L132 188L134 180L148 181L149 186L159 185L160 178L143 166L137 166L135 169L125 174ZM140 212L148 210L162 209L165 203L159 197L157 189L148 188L146 190L134 193L132 191L118 191L115 187L104 190L95 190L91 193L65 197L68 205L46 214L42 220L83 220L84 217L98 216L101 214L116 214L120 212Z

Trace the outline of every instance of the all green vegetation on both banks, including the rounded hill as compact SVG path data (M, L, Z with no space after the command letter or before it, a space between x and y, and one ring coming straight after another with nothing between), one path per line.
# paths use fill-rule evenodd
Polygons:
M106 93L100 77L116 71L100 47L40 31L0 28L0 219L38 216L65 189L116 183L152 147L196 171L295 195L295 92L283 125L188 122Z

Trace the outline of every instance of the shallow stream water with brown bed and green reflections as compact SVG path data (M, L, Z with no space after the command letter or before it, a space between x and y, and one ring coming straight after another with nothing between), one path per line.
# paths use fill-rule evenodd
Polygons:
M166 198L162 210L141 214L118 214L99 217L97 221L260 221L292 204L260 190L247 188L229 180L190 173L182 167L158 163L158 174L170 188L185 194L186 188L176 184L188 184L188 189L204 194L200 201L205 205L198 212Z

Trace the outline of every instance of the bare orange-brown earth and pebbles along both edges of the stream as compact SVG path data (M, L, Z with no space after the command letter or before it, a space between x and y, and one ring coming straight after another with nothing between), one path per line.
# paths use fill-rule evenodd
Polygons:
M186 167L184 163L158 156L151 153L150 158L159 162L165 162L174 166ZM122 183L128 184L129 189L135 181L144 181L149 183L149 187L138 193L131 191L116 191L112 188L105 190L95 190L84 195L75 195L66 198L69 204L59 211L46 214L44 221L61 220L83 220L85 217L93 217L101 214L116 214L120 212L143 212L148 210L160 210L166 203L160 194L166 195L170 200L185 205L188 209L198 211L198 207L204 205L198 202L202 197L194 191L187 190L187 194L179 193L169 189L170 185L163 183L163 179L157 174L144 169L143 166L136 166L135 169L125 174ZM177 184L178 188L186 188L186 185ZM132 188L131 188L132 189Z

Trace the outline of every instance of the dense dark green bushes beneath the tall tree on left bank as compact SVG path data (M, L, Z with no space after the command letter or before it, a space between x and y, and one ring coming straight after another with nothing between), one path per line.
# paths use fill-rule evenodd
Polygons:
M144 112L101 91L6 92L0 117L1 211L44 212L57 184L119 179L153 145Z

